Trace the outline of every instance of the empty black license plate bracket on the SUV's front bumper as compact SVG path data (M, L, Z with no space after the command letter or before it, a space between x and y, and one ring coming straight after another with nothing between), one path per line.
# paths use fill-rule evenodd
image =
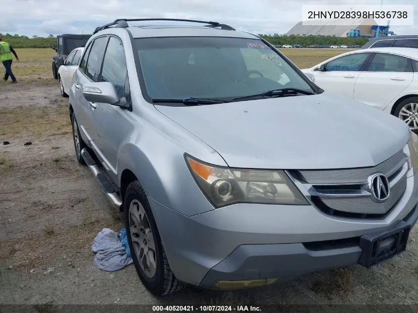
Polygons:
M411 225L404 221L384 232L367 234L360 238L363 253L359 264L373 268L406 250Z

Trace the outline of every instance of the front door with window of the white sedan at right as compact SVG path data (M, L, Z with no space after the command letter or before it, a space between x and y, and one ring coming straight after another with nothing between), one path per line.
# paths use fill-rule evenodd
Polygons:
M352 53L325 64L325 71L314 70L315 84L322 89L353 99L354 85L371 53Z

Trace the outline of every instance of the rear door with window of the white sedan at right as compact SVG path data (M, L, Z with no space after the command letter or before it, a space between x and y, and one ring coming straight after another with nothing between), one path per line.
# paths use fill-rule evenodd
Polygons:
M413 78L409 58L377 52L357 79L354 100L383 110Z

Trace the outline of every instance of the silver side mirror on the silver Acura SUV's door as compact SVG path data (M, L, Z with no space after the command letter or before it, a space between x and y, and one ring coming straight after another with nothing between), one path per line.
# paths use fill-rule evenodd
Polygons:
M115 104L120 100L112 83L109 82L83 85L83 96L87 101L97 103Z

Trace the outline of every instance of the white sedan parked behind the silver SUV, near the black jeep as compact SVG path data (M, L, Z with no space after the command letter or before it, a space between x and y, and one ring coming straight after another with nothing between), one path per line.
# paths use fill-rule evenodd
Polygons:
M71 89L73 75L80 65L83 50L83 47L75 48L72 50L65 59L64 64L61 65L58 69L59 90L61 91L61 95L63 97L68 97L68 92Z

